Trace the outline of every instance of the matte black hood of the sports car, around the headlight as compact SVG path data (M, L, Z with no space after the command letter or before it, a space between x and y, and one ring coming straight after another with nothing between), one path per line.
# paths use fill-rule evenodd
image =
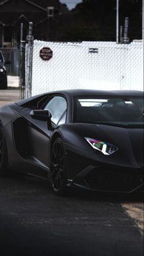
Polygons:
M69 133L69 135L68 135ZM78 137L77 137L78 136ZM76 141L76 137L78 138ZM92 125L71 123L67 126L67 143L77 145L82 149L93 150L84 139L90 137L99 141L107 142L118 147L117 152L110 156L98 152L99 158L119 163L124 166L143 166L143 129L126 128L113 125ZM69 141L69 142L68 142ZM87 142L87 145L85 144ZM94 151L94 150L93 150Z

